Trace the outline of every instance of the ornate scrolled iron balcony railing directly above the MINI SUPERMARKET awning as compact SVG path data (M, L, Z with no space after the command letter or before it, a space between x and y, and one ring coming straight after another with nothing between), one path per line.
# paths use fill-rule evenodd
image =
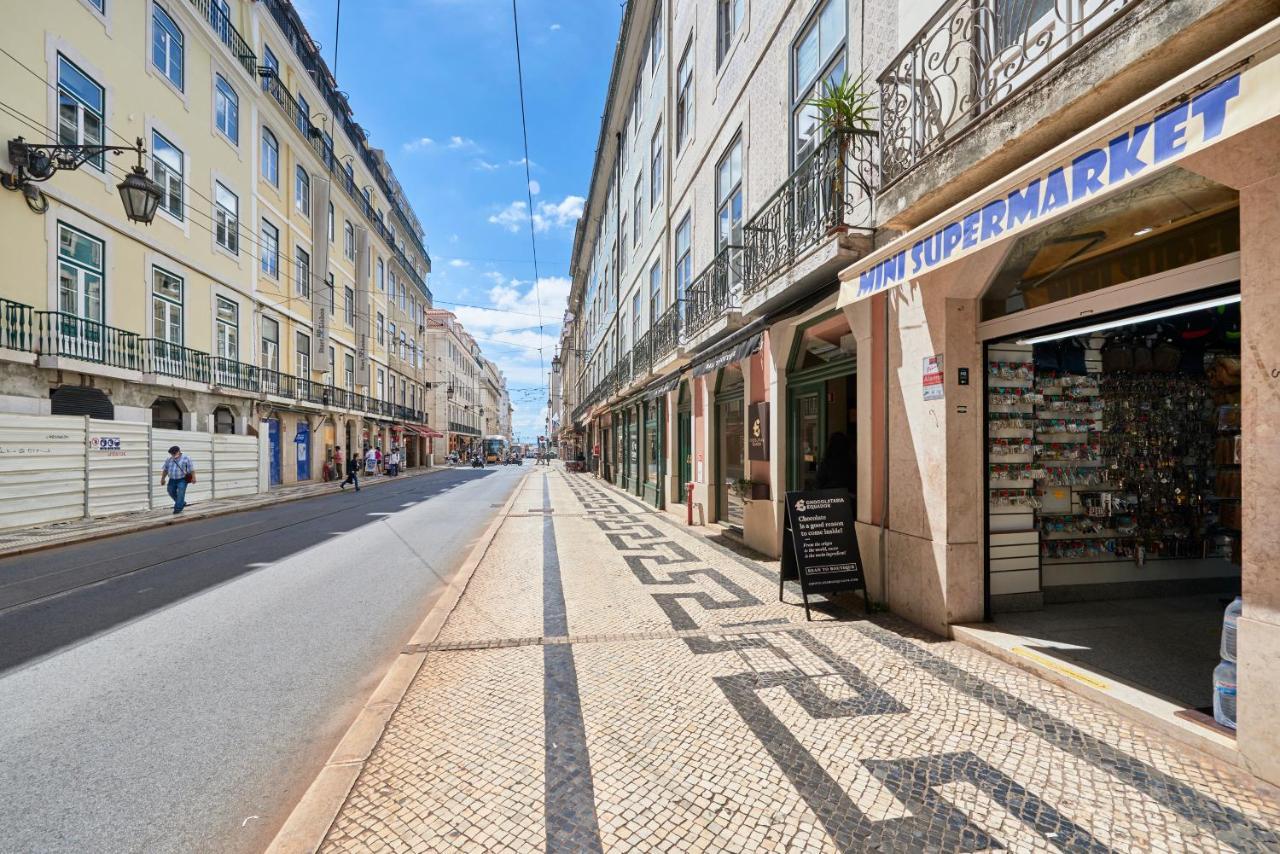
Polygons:
M1138 0L950 0L879 76L887 186Z

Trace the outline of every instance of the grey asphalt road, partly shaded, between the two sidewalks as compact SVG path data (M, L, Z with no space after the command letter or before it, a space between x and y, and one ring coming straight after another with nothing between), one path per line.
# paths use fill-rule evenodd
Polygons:
M525 471L0 561L0 851L260 851Z

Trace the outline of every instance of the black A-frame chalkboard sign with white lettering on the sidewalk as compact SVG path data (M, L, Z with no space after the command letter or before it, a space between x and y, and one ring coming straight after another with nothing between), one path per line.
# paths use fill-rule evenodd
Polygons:
M854 533L854 497L846 489L817 489L787 493L782 529L782 585L800 581L805 618L810 620L809 597L829 597L844 590L861 590L870 609L863 556Z

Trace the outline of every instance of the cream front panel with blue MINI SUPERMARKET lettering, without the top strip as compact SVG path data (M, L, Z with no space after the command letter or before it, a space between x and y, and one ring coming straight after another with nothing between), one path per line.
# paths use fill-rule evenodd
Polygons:
M840 305L874 296L986 246L1083 207L1280 113L1280 58L1180 99L1096 141L1012 189L980 195L841 273ZM995 196L995 197L992 197Z

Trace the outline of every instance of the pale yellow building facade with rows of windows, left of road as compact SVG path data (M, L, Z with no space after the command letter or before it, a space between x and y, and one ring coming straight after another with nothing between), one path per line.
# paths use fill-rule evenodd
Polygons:
M422 227L291 4L47 0L0 46L4 140L125 149L0 193L0 412L266 430L273 483L426 463Z

